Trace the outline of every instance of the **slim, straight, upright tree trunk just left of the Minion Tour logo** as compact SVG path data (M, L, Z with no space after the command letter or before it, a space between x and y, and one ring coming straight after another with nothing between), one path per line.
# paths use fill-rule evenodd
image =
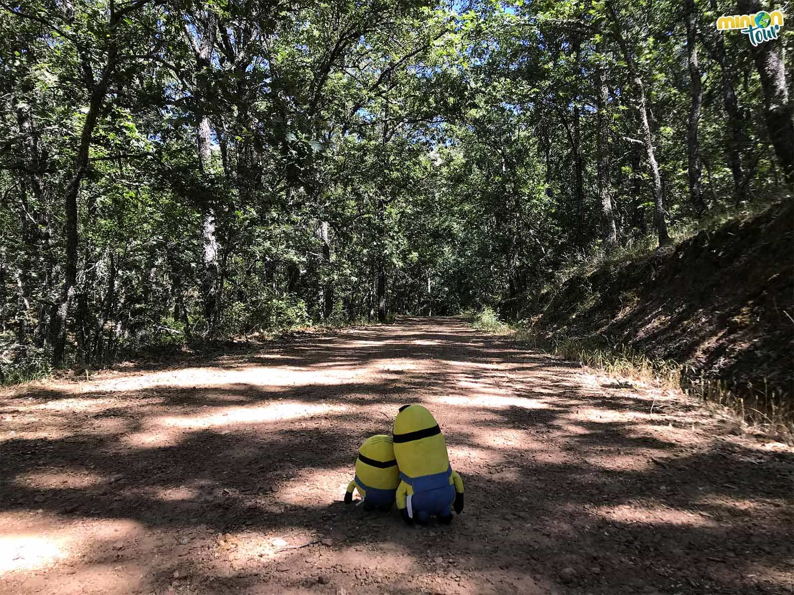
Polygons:
M697 61L697 16L695 0L686 2L687 51L689 63L689 122L687 128L687 147L689 156L689 198L696 213L703 213L703 185L700 167L700 142L698 125L700 123L700 106L703 105L703 84L700 80L700 66Z

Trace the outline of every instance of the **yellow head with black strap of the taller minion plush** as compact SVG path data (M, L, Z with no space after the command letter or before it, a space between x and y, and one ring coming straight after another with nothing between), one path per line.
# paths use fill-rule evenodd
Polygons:
M422 405L400 408L393 440L399 470L408 477L419 478L449 469L444 436L433 414Z

